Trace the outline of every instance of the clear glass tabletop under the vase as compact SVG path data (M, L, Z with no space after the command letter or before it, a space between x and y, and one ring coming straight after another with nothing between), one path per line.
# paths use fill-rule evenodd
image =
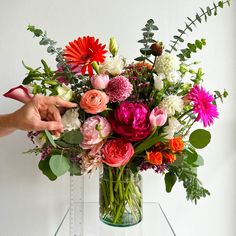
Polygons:
M173 236L170 222L158 203L143 204L143 220L134 226L114 227L99 220L99 204L74 203L65 214L56 236Z

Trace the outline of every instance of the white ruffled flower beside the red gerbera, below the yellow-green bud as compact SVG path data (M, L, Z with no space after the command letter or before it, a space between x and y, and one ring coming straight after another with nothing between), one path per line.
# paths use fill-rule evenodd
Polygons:
M100 65L100 73L106 74L108 72L113 76L120 75L124 68L124 65L124 59L116 55L115 57L105 61Z

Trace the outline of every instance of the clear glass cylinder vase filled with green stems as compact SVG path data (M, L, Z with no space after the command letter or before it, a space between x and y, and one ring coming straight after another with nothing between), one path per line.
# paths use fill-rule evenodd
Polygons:
M103 165L99 177L100 220L118 227L142 220L142 177L127 167Z

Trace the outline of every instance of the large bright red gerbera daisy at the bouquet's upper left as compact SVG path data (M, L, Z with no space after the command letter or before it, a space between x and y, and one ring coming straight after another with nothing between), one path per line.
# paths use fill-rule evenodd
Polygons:
M93 75L92 62L104 62L104 50L106 45L99 43L99 40L94 37L84 36L79 37L64 49L64 58L72 66L72 69L78 66L81 67L81 73L84 75L88 71L89 76Z

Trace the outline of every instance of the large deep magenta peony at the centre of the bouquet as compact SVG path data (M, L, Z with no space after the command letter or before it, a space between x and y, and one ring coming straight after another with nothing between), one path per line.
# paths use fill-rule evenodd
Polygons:
M146 104L122 102L109 117L112 129L127 141L140 141L151 133L150 110Z

